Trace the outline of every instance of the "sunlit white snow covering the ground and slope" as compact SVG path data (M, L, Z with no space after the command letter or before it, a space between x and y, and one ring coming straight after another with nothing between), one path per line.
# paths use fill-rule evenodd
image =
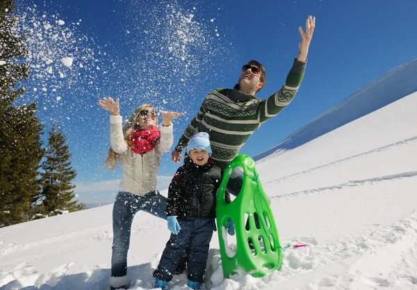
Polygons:
M265 277L224 280L215 233L205 289L417 289L417 92L271 153L256 168L281 245L308 246L285 250L281 269ZM0 289L106 287L111 210L109 204L0 229ZM169 234L165 220L137 214L131 289L152 288ZM185 274L175 276L170 289L186 290L185 282Z

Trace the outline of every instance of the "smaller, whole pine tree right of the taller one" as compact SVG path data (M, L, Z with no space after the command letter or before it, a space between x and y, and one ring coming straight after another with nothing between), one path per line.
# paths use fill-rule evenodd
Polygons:
M85 204L75 200L75 186L71 182L76 177L76 170L71 167L71 154L66 143L66 136L55 124L49 131L46 160L42 163L43 172L40 174L42 192L37 198L38 203L42 200L38 208L42 209L43 214L85 208Z

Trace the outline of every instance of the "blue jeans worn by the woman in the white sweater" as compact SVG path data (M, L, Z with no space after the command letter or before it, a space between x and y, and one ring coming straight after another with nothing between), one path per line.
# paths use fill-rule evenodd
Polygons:
M145 195L133 195L120 191L113 205L113 253L111 275L122 277L127 274L127 251L129 250L131 225L138 211L146 211L158 218L167 219L165 207L167 198L158 191Z

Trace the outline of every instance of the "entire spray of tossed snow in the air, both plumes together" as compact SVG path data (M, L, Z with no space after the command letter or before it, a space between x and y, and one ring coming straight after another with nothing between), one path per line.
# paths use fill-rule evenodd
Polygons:
M25 83L30 90L21 98L27 103L36 102L40 108L52 108L56 95L65 95L69 102L60 109L39 111L39 117L49 120L53 114L54 120L67 128L70 143L82 131L77 127L79 115L84 116L85 122L94 124L95 129L101 129L102 111L88 110L100 96L124 96L123 108L129 110L145 99L163 104L162 95L167 91L176 92L176 97L163 107L179 111L181 102L190 104L189 96L206 92L196 80L212 74L216 66L213 59L224 63L224 67L231 62L233 52L218 42L213 27L208 28L206 21L201 20L202 13L193 7L186 8L181 1L164 0L147 5L135 0L123 2L120 15L124 15L126 25L122 33L115 33L112 38L130 47L127 54L127 50L117 49L92 33L81 19L77 22L73 18L76 15L67 15L63 3L38 6L34 4L36 1L26 2L17 3L16 12L21 19L15 29L16 33L27 35L25 61L31 66ZM224 31L222 29L222 34ZM222 70L217 66L211 81L220 77ZM173 75L176 78L172 79ZM126 79L141 81L126 82ZM34 87L39 89L35 91ZM67 122L63 112L77 116ZM81 152L76 147L84 143L74 141L74 144L73 156L74 160L81 160L80 168L99 166L97 160L101 159L101 152L95 150L85 159L76 153Z

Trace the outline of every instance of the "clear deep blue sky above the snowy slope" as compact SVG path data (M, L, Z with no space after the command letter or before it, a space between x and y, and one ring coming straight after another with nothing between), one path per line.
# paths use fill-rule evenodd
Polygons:
M378 76L417 57L417 2L411 0L22 0L17 5L27 16L26 29L35 21L61 19L65 24L49 21L53 27L39 33L70 33L61 43L48 40L54 33L42 39L32 33L31 49L42 56L51 51L51 58L70 56L74 64L58 67L54 60L52 73L44 72L47 66L35 67L24 100L38 102L47 129L54 122L62 125L78 174L75 182L84 188L121 177L120 169L100 169L109 126L108 114L96 105L99 98L120 97L126 117L145 102L185 112L174 123L177 143L206 93L233 87L250 59L263 63L268 76L256 97L279 90L297 56L297 27L304 29L309 15L316 17L316 30L300 90L241 153L255 156L268 150ZM165 154L159 175L172 176L177 167ZM114 194L85 192L79 198L112 202Z

